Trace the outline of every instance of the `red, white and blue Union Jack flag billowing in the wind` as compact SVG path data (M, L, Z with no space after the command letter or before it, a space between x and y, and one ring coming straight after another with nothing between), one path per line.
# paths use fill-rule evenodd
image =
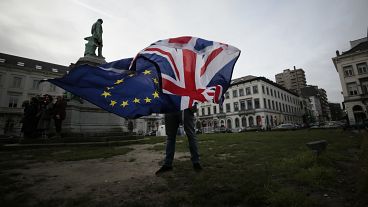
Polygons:
M239 55L233 46L190 36L158 41L138 54L158 65L162 91L180 96L181 110L219 103Z

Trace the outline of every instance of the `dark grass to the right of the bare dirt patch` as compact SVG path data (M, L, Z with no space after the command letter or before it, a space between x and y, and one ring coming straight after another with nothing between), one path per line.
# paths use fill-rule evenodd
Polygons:
M325 139L319 157L306 147ZM200 136L205 170L176 162L167 206L367 206L366 134L302 130ZM178 151L186 151L186 142ZM158 149L163 150L163 149Z

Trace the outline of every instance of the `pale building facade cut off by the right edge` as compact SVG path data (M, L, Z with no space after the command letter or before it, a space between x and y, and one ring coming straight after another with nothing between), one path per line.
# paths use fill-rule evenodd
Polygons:
M344 108L350 125L362 124L368 109L368 38L350 42L351 48L332 58L340 77Z

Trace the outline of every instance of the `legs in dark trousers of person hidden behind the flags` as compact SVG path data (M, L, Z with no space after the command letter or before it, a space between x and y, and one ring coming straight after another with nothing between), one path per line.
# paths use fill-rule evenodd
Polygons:
M184 124L184 131L188 137L189 150L191 154L191 161L193 164L193 169L197 172L202 170L202 166L199 163L199 153L197 146L197 136L195 133L194 125L195 118L194 112L196 107L185 109L184 111L174 112L170 114L165 114L165 127L166 127L166 155L164 164L156 172L156 175L160 175L164 172L171 171L173 169L172 163L175 154L175 142L176 134L180 123Z

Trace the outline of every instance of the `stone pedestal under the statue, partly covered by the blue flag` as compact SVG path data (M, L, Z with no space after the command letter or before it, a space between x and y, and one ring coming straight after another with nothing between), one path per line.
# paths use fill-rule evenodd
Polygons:
M71 64L69 67L73 70L74 67L82 64L97 66L103 63L106 63L104 58L85 56L79 58L75 64ZM71 100L68 101L63 132L83 136L98 136L126 131L124 118L109 113L80 98L71 97Z

